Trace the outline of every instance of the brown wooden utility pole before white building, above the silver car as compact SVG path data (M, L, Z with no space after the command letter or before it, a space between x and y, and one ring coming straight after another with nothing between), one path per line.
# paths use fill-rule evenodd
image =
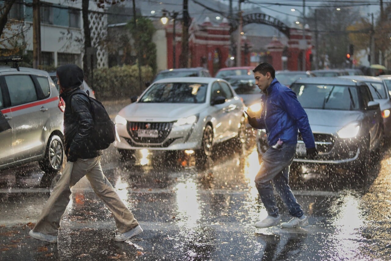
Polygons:
M39 0L32 1L32 67L37 69L41 64L41 16Z

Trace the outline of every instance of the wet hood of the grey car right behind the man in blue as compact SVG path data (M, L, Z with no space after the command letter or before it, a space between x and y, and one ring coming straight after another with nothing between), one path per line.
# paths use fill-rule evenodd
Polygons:
M314 133L335 133L343 126L352 122L360 121L362 112L340 110L305 109Z

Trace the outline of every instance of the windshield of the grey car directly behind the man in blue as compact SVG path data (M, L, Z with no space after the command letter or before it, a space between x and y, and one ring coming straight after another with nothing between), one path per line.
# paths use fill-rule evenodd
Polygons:
M323 110L359 109L355 86L294 83L291 89L296 93L303 108Z

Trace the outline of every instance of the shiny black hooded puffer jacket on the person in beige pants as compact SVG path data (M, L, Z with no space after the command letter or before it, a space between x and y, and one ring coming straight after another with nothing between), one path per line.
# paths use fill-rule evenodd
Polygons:
M76 65L63 65L57 68L57 76L63 91L60 97L65 101L64 142L68 160L102 155L88 139L93 131L90 101L86 95L77 94L83 84L83 70Z

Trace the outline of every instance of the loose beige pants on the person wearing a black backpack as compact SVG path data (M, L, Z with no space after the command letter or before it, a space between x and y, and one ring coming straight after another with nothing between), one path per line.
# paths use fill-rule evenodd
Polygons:
M58 235L60 220L69 203L71 188L83 176L88 178L95 193L103 200L114 216L115 224L120 233L137 227L138 222L132 212L124 205L113 186L103 174L100 166L100 156L96 158L77 159L76 162L67 162L50 198L43 206L34 232Z

